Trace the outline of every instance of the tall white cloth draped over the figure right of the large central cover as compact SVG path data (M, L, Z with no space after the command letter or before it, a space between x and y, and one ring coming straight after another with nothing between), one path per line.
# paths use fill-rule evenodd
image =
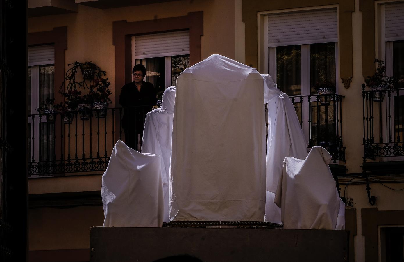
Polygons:
M305 159L306 139L290 98L276 87L270 75L264 79L264 100L268 103L267 187L275 193L286 157Z

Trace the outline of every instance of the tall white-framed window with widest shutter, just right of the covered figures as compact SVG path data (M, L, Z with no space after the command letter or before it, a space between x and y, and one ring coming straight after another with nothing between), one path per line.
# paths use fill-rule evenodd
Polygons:
M336 86L336 8L267 14L264 27L265 64L279 89L288 96L309 96L317 94L316 84ZM311 100L309 113L307 97L292 100L309 144L332 143L328 141L335 136L334 101L327 108ZM303 125L309 120L310 128Z

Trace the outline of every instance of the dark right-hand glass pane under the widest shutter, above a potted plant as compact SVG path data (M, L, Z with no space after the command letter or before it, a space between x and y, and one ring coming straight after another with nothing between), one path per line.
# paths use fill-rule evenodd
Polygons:
M335 87L335 43L310 45L311 94L316 94L316 85Z

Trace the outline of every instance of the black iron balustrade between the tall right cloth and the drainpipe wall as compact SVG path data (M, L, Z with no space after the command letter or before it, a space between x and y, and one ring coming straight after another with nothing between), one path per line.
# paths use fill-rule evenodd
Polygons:
M290 96L295 105L300 126L308 137L307 147L322 146L337 160L345 162L342 140L342 99L344 96L306 95Z

